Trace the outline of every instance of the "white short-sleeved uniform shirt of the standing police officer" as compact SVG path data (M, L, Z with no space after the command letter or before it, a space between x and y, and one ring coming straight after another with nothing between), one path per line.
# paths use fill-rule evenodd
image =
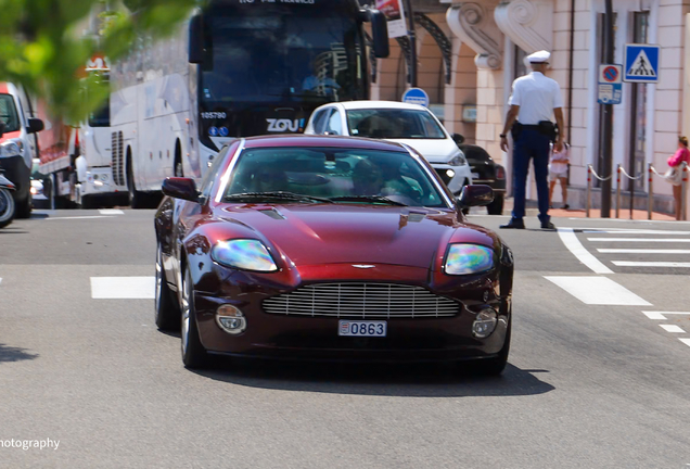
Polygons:
M536 125L539 121L551 121L555 107L563 107L561 87L554 79L540 72L532 72L513 81L509 105L519 105L518 121L522 125Z

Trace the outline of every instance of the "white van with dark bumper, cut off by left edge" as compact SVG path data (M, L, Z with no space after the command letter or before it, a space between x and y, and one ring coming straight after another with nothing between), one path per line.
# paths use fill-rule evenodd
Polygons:
M15 217L31 215L31 162L38 157L36 134L43 122L34 118L34 110L23 89L0 81L0 169L16 186L13 192Z

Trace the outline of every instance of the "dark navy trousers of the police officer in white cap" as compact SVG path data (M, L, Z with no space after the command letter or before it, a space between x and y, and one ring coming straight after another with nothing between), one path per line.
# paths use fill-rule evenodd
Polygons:
M539 131L538 126L522 126L513 142L513 218L525 216L525 187L529 172L529 160L534 160L534 176L539 199L539 220L549 221L549 152L551 138Z

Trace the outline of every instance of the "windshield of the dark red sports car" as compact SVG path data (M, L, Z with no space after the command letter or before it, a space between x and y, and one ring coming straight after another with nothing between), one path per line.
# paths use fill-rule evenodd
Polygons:
M343 148L246 149L223 195L243 202L447 207L423 166L408 153Z

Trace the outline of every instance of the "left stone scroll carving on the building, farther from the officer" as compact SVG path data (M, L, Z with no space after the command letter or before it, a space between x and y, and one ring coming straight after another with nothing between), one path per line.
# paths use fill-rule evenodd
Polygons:
M503 35L490 14L496 4L456 3L446 13L450 30L477 53L478 68L500 68L503 62Z

